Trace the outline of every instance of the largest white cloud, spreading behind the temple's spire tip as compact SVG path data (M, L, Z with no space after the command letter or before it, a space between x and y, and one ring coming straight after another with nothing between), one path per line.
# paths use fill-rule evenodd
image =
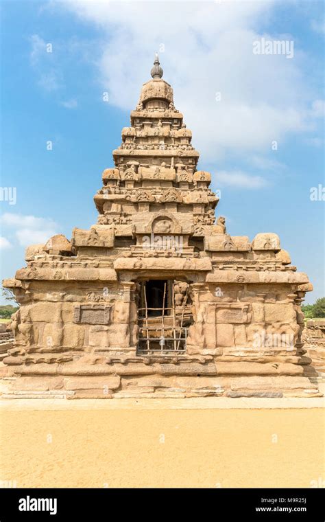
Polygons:
M274 39L258 32L273 0L173 2L172 13L168 1L63 0L58 5L106 34L94 61L101 87L121 109L134 109L141 84L150 78L152 56L163 49L164 78L206 161L227 150L268 152L273 140L281 143L311 127L315 96L304 80L298 43L291 60L252 52L261 36ZM219 102L216 93L221 93Z

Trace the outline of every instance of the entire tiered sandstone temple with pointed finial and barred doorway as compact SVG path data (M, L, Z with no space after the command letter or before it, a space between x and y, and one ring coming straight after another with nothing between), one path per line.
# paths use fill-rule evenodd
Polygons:
M230 236L156 56L99 216L27 248L4 396L315 396L301 341L312 289L276 234Z

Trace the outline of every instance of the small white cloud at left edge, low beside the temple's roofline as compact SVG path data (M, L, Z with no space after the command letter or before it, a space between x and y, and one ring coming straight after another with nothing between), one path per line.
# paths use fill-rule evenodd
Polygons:
M14 229L14 236L19 245L26 247L33 243L45 243L51 236L57 234L58 225L50 218L24 216L23 214L3 214L1 225Z

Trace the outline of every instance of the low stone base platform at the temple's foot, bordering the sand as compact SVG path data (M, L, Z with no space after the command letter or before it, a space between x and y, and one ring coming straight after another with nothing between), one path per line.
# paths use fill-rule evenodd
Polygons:
M311 398L319 383L305 376L21 376L5 377L3 399Z

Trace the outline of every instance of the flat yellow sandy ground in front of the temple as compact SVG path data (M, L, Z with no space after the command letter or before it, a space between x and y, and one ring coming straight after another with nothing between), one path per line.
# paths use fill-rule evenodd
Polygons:
M2 486L322 484L322 398L210 399L3 400Z

